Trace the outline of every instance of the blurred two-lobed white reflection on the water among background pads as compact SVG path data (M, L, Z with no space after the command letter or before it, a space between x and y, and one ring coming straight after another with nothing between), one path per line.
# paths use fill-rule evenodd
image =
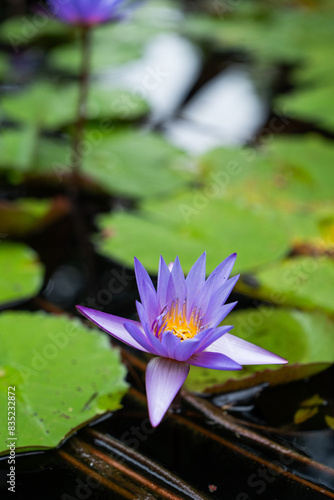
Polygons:
M148 127L162 124L168 139L190 153L251 140L265 122L266 104L247 67L233 64L211 79L182 107L202 69L201 52L188 40L164 33L142 59L108 74L108 85L142 96L151 107Z

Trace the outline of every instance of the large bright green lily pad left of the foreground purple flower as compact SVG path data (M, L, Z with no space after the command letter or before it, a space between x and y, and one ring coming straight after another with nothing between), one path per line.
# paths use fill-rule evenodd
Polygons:
M0 338L0 402L7 408L8 388L15 387L17 451L55 447L96 416L121 407L126 369L107 335L64 316L6 312ZM11 438L7 425L3 418L2 454Z

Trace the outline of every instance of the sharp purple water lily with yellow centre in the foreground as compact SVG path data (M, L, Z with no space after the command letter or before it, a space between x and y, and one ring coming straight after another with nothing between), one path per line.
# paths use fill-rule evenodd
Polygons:
M236 302L225 304L239 276L228 279L236 254L225 259L205 279L205 254L184 277L178 257L170 269L160 258L158 285L135 258L141 303L138 321L87 307L78 310L117 339L155 354L147 365L146 393L150 421L156 427L187 378L190 365L216 370L241 370L249 364L287 361L228 333L219 326Z

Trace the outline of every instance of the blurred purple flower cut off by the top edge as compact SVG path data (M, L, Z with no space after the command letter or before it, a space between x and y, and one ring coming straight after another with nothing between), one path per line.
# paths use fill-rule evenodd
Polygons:
M119 21L126 14L129 3L128 0L48 0L56 17L79 26Z

